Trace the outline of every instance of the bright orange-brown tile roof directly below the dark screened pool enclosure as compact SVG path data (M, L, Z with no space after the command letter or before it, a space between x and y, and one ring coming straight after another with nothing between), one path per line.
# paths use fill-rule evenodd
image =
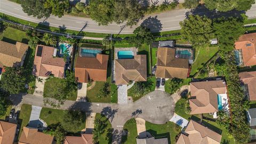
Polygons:
M97 54L96 58L77 57L75 76L79 83L93 81L107 81L108 55Z

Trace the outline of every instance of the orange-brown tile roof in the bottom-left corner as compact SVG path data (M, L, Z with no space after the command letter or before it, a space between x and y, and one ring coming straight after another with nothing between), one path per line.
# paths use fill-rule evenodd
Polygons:
M16 124L0 121L0 144L13 143L16 127Z

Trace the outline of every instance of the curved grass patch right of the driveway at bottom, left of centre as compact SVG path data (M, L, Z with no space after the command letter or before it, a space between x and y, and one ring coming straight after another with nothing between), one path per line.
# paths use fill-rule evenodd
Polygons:
M111 123L107 119L107 117L97 113L95 116L95 119L100 119L100 121L103 121L105 124L104 127L104 133L100 135L99 137L99 143L100 144L110 144L112 142L112 134L111 134Z

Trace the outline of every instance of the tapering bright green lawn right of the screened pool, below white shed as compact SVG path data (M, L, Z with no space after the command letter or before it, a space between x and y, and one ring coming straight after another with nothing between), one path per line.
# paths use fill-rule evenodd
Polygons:
M210 60L215 53L218 52L218 47L209 47L209 46L200 47L200 48L196 49L195 51L196 51L195 52L195 58L196 58L196 55L197 55L198 52L199 52L199 54L198 54L198 57L197 57L196 61L194 61L193 65L192 65L192 68L191 68L191 71L190 71L191 76L195 75L197 70L202 68L203 65L208 60Z

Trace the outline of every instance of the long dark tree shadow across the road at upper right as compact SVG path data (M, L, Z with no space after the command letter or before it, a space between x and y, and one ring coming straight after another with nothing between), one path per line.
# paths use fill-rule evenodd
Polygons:
M188 12L186 12L186 18L188 18L188 15L193 14L193 15L199 15L199 16L206 16L210 19L214 18L220 18L220 17L241 17L241 14L244 13L245 11L237 11L237 10L231 10L228 12L219 12L216 10L209 10L205 7L205 5L200 4L198 5L195 9L192 9Z

